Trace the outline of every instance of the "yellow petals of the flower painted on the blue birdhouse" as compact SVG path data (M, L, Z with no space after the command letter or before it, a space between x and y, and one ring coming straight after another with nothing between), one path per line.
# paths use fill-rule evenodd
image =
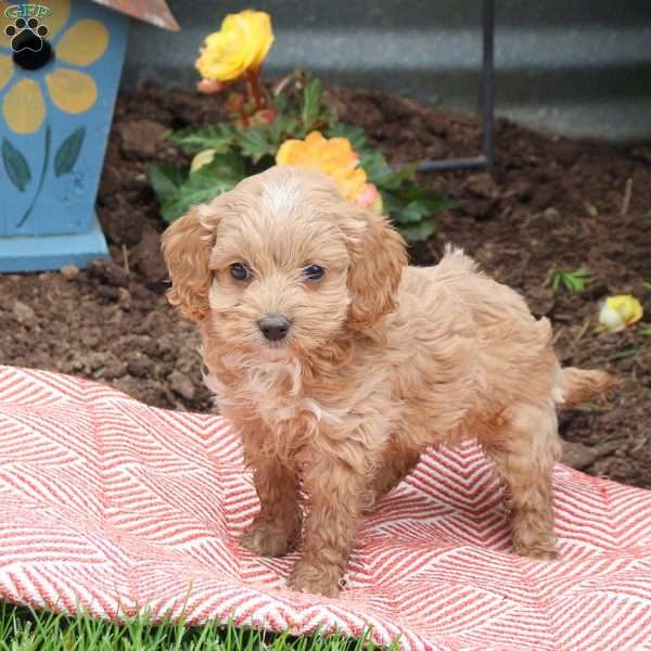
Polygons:
M42 79L37 74L31 77L30 71L22 73L2 100L4 122L16 133L38 131L46 118L41 81L44 81L52 103L65 113L84 113L93 106L98 98L94 79L75 68L88 66L104 54L108 47L106 27L99 21L82 18L56 39L69 18L71 3L69 0L50 0L48 7L52 13L43 24L48 27L47 40L54 44L55 64ZM11 39L4 34L4 25L0 34L0 47L11 49ZM60 67L60 62L75 67ZM0 53L0 91L11 82L16 69L18 66L11 53Z

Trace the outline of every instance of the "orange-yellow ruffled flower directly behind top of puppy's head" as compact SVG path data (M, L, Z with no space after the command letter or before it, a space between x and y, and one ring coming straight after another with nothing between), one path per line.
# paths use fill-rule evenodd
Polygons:
M347 138L323 138L311 131L305 140L285 140L276 154L279 165L297 165L319 169L330 175L342 194L353 202L363 196L366 171L358 167L359 156Z

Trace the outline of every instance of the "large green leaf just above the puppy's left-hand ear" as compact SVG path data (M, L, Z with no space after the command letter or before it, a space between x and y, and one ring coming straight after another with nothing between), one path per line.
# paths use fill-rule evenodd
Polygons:
M245 176L244 161L239 154L231 152L215 156L209 165L189 175L174 193L162 201L163 219L171 224L192 206L232 190Z

